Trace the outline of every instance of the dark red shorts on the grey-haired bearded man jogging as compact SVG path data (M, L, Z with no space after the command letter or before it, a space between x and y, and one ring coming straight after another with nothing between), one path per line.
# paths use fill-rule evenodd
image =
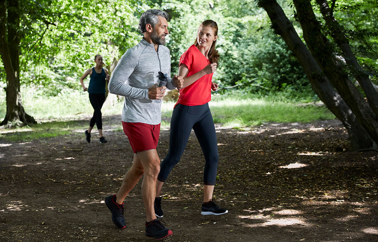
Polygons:
M134 153L153 150L158 146L160 123L157 125L147 123L123 122L124 133L129 138Z

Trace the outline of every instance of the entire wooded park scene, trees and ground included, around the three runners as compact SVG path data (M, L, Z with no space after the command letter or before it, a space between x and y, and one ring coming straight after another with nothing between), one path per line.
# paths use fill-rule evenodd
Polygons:
M214 198L229 213L200 216L193 134L162 194L171 241L376 242L376 0L0 0L0 240L144 241L140 182L125 230L104 204L133 162L122 97L102 108L108 143L96 132L87 143L93 108L79 78L96 54L111 74L150 8L170 15L172 75L198 25L219 26L209 106ZM161 159L174 103L162 103Z

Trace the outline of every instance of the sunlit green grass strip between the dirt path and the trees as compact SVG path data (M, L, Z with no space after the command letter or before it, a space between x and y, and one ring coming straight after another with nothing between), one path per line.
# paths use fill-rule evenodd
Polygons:
M43 90L30 87L22 88L22 98L26 113L43 122L23 128L0 130L0 138L9 141L31 141L65 135L76 129L88 128L88 116L93 113L88 94L77 90L60 93L58 96L43 96ZM170 118L176 102L163 102L161 116ZM261 125L265 122L312 122L314 120L335 119L324 106L303 105L287 102L274 96L257 97L253 94L234 92L232 94L215 94L209 103L214 123L223 126L246 127ZM123 102L102 108L103 116L120 115ZM5 117L5 92L0 91L0 118ZM86 117L85 119L83 117ZM58 120L49 122L51 119ZM74 119L67 121L65 119ZM84 120L83 120L84 119ZM169 128L170 123L162 120L161 127ZM118 127L115 131L122 132Z

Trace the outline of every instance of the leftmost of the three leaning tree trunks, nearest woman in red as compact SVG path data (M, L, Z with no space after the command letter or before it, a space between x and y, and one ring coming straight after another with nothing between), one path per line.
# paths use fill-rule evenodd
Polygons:
M375 146L373 140L357 122L356 116L349 106L324 76L320 66L299 38L280 5L275 0L257 0L257 3L268 13L274 31L281 35L289 49L297 57L319 99L344 124L351 140L352 149L359 150Z

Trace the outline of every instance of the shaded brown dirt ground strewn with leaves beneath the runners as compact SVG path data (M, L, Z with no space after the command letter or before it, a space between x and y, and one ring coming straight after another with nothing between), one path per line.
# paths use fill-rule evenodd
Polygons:
M119 230L104 198L132 163L119 116L104 118L108 143L84 130L29 143L0 140L0 241L153 241L144 235L141 182L125 199ZM87 122L87 121L78 121ZM162 130L158 154L168 150ZM192 134L163 188L169 241L378 241L377 152L349 150L337 120L217 127L215 199L229 210L201 216L204 159Z

